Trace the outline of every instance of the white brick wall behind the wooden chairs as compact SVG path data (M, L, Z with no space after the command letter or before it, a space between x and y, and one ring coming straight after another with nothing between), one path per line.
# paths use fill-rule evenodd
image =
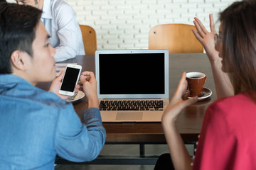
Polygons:
M15 2L14 0L7 0ZM235 0L66 0L78 23L92 26L98 49L148 47L151 27L164 23L193 24L198 17L209 28L208 14L218 13ZM219 23L215 23L218 30Z

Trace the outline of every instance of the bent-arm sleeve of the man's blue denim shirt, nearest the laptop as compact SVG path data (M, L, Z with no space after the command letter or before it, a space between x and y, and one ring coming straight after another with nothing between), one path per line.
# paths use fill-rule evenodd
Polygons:
M55 135L59 157L72 162L92 161L100 154L105 138L99 109L87 109L82 123L72 105L61 110Z

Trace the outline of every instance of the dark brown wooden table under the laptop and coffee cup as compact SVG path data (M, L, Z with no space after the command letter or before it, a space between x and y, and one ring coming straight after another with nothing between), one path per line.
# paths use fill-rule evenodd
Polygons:
M198 101L192 106L185 108L178 119L176 126L184 142L196 142L201 131L203 116L209 104L215 101L216 93L213 75L208 57L203 53L196 54L171 54L170 55L170 99L176 91L178 81L183 72L203 72L207 75L205 86L213 91L210 98ZM77 56L74 59L66 60L67 63L78 63L82 70L95 72L94 56ZM50 84L38 84L42 89L48 89ZM82 111L86 109L85 101L74 103L75 111L82 118ZM103 123L107 130L106 144L139 144L140 154L144 154L145 144L166 143L161 123Z

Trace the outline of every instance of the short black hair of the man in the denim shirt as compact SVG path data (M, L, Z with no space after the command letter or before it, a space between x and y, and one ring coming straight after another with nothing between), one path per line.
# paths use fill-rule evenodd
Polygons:
M33 56L32 43L42 11L32 6L0 3L0 74L11 74L11 53Z

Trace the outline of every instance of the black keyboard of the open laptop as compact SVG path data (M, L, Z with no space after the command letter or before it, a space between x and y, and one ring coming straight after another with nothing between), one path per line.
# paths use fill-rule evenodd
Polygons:
M163 111L163 100L100 101L100 111Z

